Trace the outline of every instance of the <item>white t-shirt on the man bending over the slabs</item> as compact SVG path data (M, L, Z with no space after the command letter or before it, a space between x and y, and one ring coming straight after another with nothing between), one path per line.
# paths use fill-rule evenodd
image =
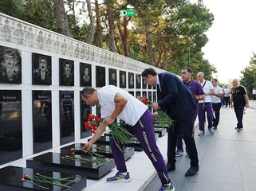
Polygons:
M101 106L101 118L106 118L109 115L112 115L112 112L115 110L115 96L116 93L120 93L127 99L127 103L124 107L124 110L120 112L120 115L117 116L118 119L123 120L125 123L134 126L144 112L148 109L144 103L139 99L132 96L128 92L125 92L121 88L117 88L113 85L107 85L97 91L100 106Z

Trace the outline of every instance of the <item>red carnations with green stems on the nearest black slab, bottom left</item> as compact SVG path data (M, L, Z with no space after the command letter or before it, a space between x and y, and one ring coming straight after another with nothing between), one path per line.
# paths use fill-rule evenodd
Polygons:
M30 175L24 173L23 177L21 178L21 182L26 181L33 185L37 185L42 189L49 189L46 187L47 185L56 185L57 187L61 188L70 188L70 186L67 184L73 182L73 179L74 177L47 177L40 173L35 173L33 177L30 177Z

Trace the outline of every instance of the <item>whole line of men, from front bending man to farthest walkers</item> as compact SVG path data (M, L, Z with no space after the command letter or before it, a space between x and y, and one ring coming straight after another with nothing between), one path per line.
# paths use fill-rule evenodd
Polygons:
M190 168L185 176L193 176L199 171L198 151L194 138L196 117L199 119L198 136L205 135L206 116L207 129L214 135L214 130L217 130L219 125L220 109L225 100L226 107L234 108L238 120L235 129L241 131L243 110L249 107L249 98L246 88L239 85L237 79L232 80L233 88L220 88L217 79L205 80L203 72L198 72L197 81L192 80L192 70L188 67L182 68L182 80L171 72L157 73L153 68L146 68L141 76L146 84L156 86L157 101L150 106L154 111L165 111L173 119L173 123L167 129L167 164L156 145L152 112L139 99L113 85L104 86L100 90L85 87L81 92L81 98L89 106L100 104L100 117L103 118L93 138L85 143L82 150L88 152L106 127L116 119L121 119L127 123L125 128L128 132L138 138L155 167L162 183L160 191L174 191L175 187L168 177L168 171L175 170L176 157L183 154L183 141L186 144L187 158L190 158ZM123 144L110 140L110 146L118 171L115 176L108 177L107 181L131 181L124 161Z

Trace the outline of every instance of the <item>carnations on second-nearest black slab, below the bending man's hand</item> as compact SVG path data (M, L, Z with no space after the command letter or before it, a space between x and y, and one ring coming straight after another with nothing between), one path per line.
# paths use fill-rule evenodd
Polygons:
M70 148L70 154L69 155L65 155L61 157L62 160L72 160L72 161L77 161L77 162L81 162L81 163L96 163L97 165L103 165L108 163L103 157L103 155L100 154L96 154L93 151L89 150L87 153L90 155L89 158L86 157L77 157L77 155L75 154L76 150L81 150L81 148L75 149L75 148ZM82 151L82 150L81 150Z

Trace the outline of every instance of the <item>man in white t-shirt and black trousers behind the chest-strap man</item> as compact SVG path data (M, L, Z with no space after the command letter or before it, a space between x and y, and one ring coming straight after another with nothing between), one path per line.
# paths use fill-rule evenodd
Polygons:
M216 78L211 79L211 84L215 88L215 94L211 96L212 109L214 111L212 126L216 130L219 125L219 111L222 107L223 89L219 87L218 80Z

